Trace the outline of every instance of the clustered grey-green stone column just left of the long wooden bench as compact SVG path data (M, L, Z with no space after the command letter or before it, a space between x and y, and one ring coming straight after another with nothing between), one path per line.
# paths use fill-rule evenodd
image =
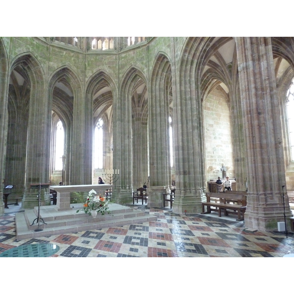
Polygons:
M195 72L201 72L200 61L209 44L205 38L201 46L183 55L179 78L173 81L174 213L200 213L201 201L205 197L203 115L200 87L197 86L200 83L197 79L199 74Z

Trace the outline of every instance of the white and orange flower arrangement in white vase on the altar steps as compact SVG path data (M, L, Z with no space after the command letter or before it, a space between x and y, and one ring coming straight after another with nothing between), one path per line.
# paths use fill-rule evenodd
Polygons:
M98 196L97 192L93 189L89 192L89 197L83 205L82 210L90 216L92 215L93 210L101 213L102 216L105 212L110 214L108 200L105 197L102 197L101 194ZM78 213L79 211L80 209L76 212Z

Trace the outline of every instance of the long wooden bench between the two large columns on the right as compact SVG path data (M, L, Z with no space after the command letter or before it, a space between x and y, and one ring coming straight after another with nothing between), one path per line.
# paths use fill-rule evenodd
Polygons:
M231 191L236 192L236 191ZM223 210L224 215L228 213L237 214L237 221L244 221L244 214L246 211L246 195L239 193L206 193L206 201L201 202L202 204L202 214L211 213L212 211L217 211L219 217L221 217L221 210ZM205 212L205 206L207 211Z

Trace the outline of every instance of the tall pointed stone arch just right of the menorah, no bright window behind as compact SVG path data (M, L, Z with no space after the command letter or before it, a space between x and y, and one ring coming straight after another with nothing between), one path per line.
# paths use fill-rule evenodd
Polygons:
M114 141L114 146L117 144L124 157L121 166L125 172L124 187L132 189L133 185L143 185L148 177L147 77L140 68L130 66L123 74L120 85L121 96L117 109L118 113L123 114L121 123L124 128L119 134L119 142ZM116 129L121 129L121 126L116 125ZM125 169L127 166L129 169Z

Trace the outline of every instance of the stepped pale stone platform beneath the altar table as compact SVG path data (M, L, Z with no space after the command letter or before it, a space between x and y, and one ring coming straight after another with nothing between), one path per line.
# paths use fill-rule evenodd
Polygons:
M65 211L59 211L52 205L41 206L39 223L38 207L16 213L16 239L24 240L157 220L156 216L115 203L108 204L110 214L98 214L93 218L83 211L76 213L82 206L82 203L73 204L74 208Z

